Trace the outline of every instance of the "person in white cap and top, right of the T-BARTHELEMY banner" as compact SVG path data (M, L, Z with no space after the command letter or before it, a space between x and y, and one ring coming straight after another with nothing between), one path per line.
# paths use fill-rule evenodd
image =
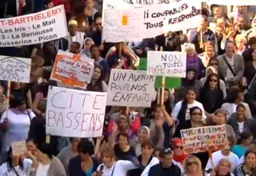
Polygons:
M80 43L80 49L82 49L84 39L86 38L86 34L84 32L78 31L78 22L74 19L71 19L68 22L69 25L69 34L67 36L68 40L68 50L70 50L71 44L73 42L79 42Z

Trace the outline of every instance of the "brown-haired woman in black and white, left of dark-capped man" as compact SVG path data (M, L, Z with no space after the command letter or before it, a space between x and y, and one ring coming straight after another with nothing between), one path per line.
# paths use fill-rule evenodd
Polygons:
M142 143L142 154L138 156L138 169L131 170L130 175L146 176L149 174L150 168L159 163L158 158L153 156L154 145L149 140Z

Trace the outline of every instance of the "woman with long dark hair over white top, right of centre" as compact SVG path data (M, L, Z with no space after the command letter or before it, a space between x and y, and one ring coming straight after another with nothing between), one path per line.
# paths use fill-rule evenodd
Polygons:
M196 94L196 90L193 88L188 88L186 90L185 98L174 106L174 110L171 116L179 124L182 125L182 123L190 119L190 109L194 106L198 106L200 110L202 110L202 121L206 120L206 114L202 103L195 100Z

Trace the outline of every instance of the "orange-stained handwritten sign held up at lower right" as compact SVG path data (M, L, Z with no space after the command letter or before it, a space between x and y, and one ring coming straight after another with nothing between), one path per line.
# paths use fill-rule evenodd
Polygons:
M188 154L222 150L229 147L226 126L204 126L181 130L184 150Z

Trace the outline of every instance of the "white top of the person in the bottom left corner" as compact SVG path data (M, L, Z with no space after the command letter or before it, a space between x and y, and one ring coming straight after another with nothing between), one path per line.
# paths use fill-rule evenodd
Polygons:
M14 169L17 171L19 176L30 175L33 162L30 159L23 159L23 169L20 166L14 166ZM3 163L0 166L0 175L1 176L16 176L15 171L8 166L7 162Z

